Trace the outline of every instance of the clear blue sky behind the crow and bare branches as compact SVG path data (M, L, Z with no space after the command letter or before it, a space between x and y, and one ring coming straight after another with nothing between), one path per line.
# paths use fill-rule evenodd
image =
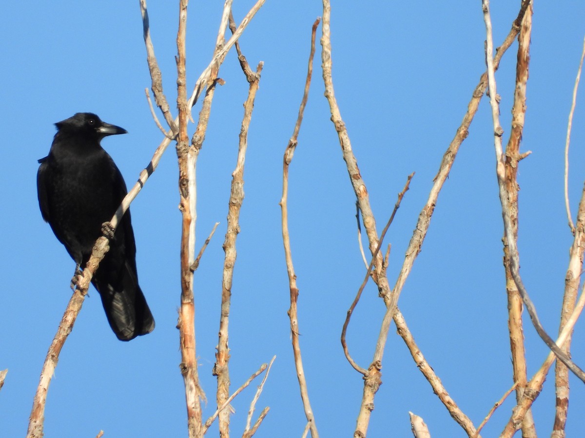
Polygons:
M192 86L211 57L223 2L191 2L187 79ZM333 82L378 230L407 175L416 172L386 241L392 244L390 284L432 178L484 71L485 29L479 1L448 6L423 2L332 2ZM513 4L512 4L513 3ZM236 21L253 2L235 2ZM178 6L149 2L154 48L171 108L176 99ZM518 2L491 2L494 43L517 15ZM297 437L305 419L298 392L288 309L288 281L280 231L282 156L304 86L311 25L321 2L266 2L240 40L250 65L264 61L245 169L238 260L232 288L229 345L232 388L276 354L257 412L270 406L258 437ZM36 160L49 151L53 123L91 111L128 130L103 146L132 185L161 140L144 88L150 87L139 3L17 2L0 5L2 51L0 117L0 437L23 436L47 347L70 298L74 264L41 218ZM521 274L545 328L553 335L572 241L563 200L567 114L585 27L582 2L536 4L528 110L521 151L519 251ZM318 38L321 30L318 30ZM355 196L347 179L329 107L323 97L320 46L304 122L290 169L289 218L300 288L301 348L309 396L321 436L353 431L362 378L339 343L345 312L363 279L357 247ZM515 51L496 74L504 140L510 132ZM199 156L197 248L213 224L215 237L195 274L199 376L215 411L211 370L221 297L222 243L231 172L235 166L247 82L230 53L219 73L204 147ZM583 95L583 91L579 96ZM194 111L197 115L198 108ZM503 226L495 179L491 112L483 99L432 218L399 307L429 363L474 424L510 388ZM570 199L577 209L585 180L583 98L577 102L570 151ZM192 127L191 133L192 133ZM168 148L159 169L132 204L137 265L156 319L153 333L119 342L97 291L90 289L49 388L47 437L186 436L183 379L178 369L180 297L177 164ZM74 214L74 206L71 213ZM367 367L384 306L366 288L348 332L355 360ZM525 318L528 371L547 350ZM583 322L573 359L583 366ZM554 337L554 336L553 336ZM409 436L408 411L422 416L433 437L464 436L433 395L402 340L391 329L369 436ZM259 383L259 381L258 381ZM572 379L567 435L583 430L583 384ZM241 434L257 383L233 402L232 434ZM553 377L534 405L539 433L552 429ZM483 436L496 436L514 406L495 413ZM212 428L211 436L217 433Z

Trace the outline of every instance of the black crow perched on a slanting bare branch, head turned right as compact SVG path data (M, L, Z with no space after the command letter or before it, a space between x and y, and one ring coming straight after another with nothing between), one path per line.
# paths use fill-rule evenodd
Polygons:
M92 113L77 113L55 125L57 134L49 155L39 160L39 206L44 220L77 263L77 275L102 235L102 223L112 218L127 193L122 174L99 142L106 135L128 131L104 123ZM138 286L130 211L109 247L91 282L118 339L146 335L154 329L154 319Z

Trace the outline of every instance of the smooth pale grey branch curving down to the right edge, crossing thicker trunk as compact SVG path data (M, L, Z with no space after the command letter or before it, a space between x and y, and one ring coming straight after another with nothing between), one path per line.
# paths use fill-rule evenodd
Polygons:
M496 173L498 177L498 187L500 193L500 203L502 205L502 215L504 218L504 230L505 235L508 237L508 247L510 248L510 271L512 274L512 278L518 287L518 291L520 296L522 297L522 301L524 301L524 305L526 306L526 310L530 315L530 319L532 324L534 325L536 332L542 338L542 340L546 343L546 345L556 354L556 356L567 366L573 373L579 377L583 382L585 382L585 372L581 370L576 364L573 363L569 357L563 353L563 351L559 348L558 345L555 344L555 341L550 338L548 333L546 333L545 329L542 327L541 322L538 319L538 315L536 314L536 308L534 304L530 300L528 296L528 291L524 287L524 283L520 277L518 272L518 267L520 266L519 263L519 254L516 242L514 241L514 225L512 224L512 219L510 217L510 202L507 198L507 192L505 190L505 169L504 169L504 162L505 162L505 155L503 154L502 150L502 134L504 133L503 128L500 125L500 107L498 105L497 99L497 89L495 85L495 76L494 76L494 64L493 64L493 40L491 35L491 17L490 17L490 2L489 0L482 0L482 8L483 8L483 16L484 21L486 22L486 34L487 34L487 46L486 46L486 58L487 58L487 71L488 71L488 82L490 87L490 104L491 104L491 114L492 119L494 121L494 146L495 146L495 157L496 157Z

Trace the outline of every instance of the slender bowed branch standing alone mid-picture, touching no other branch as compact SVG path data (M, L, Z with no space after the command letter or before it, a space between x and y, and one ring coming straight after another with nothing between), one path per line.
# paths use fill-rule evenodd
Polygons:
M311 402L309 401L309 392L307 388L307 380L305 379L305 372L302 366L301 357L301 345L299 340L299 328L298 328L298 314L297 314L297 301L298 301L298 287L297 287L297 275L294 272L294 266L292 263L292 251L290 246L290 234L288 231L288 166L292 161L295 148L298 143L298 133L301 129L302 116L304 114L305 106L307 105L309 88L311 87L311 76L313 71L313 58L315 55L315 34L317 26L321 19L316 19L313 23L311 31L311 51L309 53L309 62L307 67L307 79L305 80L305 89L301 99L301 105L298 110L297 122L295 123L292 131L292 136L288 140L287 147L284 151L283 157L283 196L280 200L280 207L282 213L282 231L283 231L283 244L284 244L284 256L287 265L288 274L288 287L290 290L290 308L288 309L288 317L290 318L291 326L291 342L292 342L292 353L294 356L295 369L297 370L297 379L299 388L301 391L302 405L305 411L305 416L311 427L311 436L317 438L319 432L315 425L315 416L311 408Z

